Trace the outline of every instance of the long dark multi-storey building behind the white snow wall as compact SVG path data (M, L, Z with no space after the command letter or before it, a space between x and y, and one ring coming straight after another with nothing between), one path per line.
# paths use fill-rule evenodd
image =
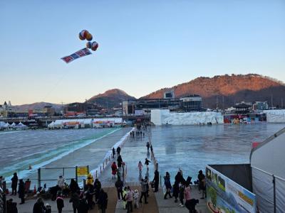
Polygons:
M149 114L151 109L170 109L170 111L202 111L202 97L190 95L180 99L130 99L123 101L123 115Z

